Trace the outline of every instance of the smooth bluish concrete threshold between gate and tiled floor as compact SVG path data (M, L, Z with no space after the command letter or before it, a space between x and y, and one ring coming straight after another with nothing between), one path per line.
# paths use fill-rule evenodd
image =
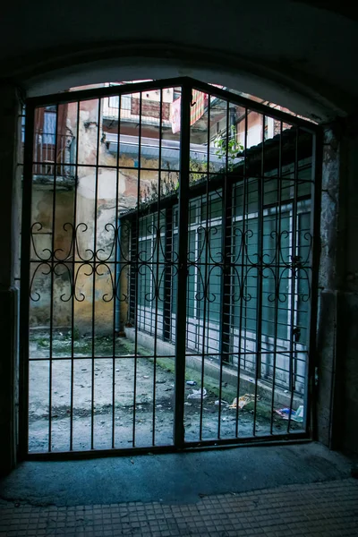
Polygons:
M24 462L0 481L0 499L57 507L129 501L192 503L206 495L344 479L350 471L349 459L313 442Z

